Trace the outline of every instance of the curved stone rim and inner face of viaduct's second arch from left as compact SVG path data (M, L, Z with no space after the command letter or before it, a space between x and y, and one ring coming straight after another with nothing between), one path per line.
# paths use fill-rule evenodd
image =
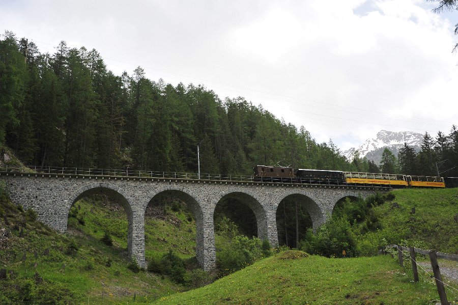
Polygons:
M145 215L146 209L148 207L148 204L151 202L151 200L159 195L160 193L167 192L167 191L173 191L177 192L179 194L179 198L183 199L183 201L186 202L186 204L189 204L189 207L192 210L192 213L194 214L195 218L195 232L196 232L196 246L195 246L195 256L197 258L197 261L199 264L204 267L204 269L207 269L206 266L207 264L207 255L206 252L209 251L207 248L207 245L205 244L205 239L206 239L206 224L205 224L205 217L204 217L204 209L201 206L201 200L199 200L199 197L196 195L195 192L192 190L176 185L176 184L169 184L165 185L159 188L154 189L151 191L148 196L146 197L144 206L141 207L142 214ZM214 259L213 259L214 260Z

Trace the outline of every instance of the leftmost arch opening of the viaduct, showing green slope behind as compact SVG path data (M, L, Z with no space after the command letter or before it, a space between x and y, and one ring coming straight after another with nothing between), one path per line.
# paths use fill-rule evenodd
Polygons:
M112 185L93 183L77 190L67 201L65 231L74 230L103 240L121 255L135 257L133 249L133 211L124 192ZM109 244L108 240L106 241ZM126 252L127 250L127 252ZM138 261L141 264L141 261Z

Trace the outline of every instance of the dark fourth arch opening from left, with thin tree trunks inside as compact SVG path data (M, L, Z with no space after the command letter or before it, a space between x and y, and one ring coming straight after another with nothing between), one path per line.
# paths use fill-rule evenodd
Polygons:
M288 192L279 199L275 220L278 244L297 248L308 229L316 230L325 222L325 214L305 193Z

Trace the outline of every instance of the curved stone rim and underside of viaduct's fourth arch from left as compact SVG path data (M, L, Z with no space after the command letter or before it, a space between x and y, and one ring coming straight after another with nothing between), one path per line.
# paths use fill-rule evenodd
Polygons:
M277 212L278 206L280 205L281 201L287 198L288 196L292 195L304 196L306 198L307 212L310 214L313 230L316 230L318 227L325 223L327 217L326 209L316 197L314 197L311 193L304 190L292 189L280 193L274 200L274 213Z

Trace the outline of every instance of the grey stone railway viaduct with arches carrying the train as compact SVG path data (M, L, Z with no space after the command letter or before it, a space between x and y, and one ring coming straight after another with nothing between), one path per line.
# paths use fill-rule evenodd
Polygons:
M247 204L256 217L257 237L278 245L275 214L283 199L294 196L303 200L313 228L317 228L326 221L340 199L365 198L383 190L374 186L20 172L0 172L2 180L14 204L34 209L39 220L60 232L66 232L70 207L80 198L93 192L103 192L116 199L124 207L128 218L128 253L140 266L146 266L146 208L159 193L174 193L193 210L196 257L204 270L215 267L213 213L222 198L234 198Z

